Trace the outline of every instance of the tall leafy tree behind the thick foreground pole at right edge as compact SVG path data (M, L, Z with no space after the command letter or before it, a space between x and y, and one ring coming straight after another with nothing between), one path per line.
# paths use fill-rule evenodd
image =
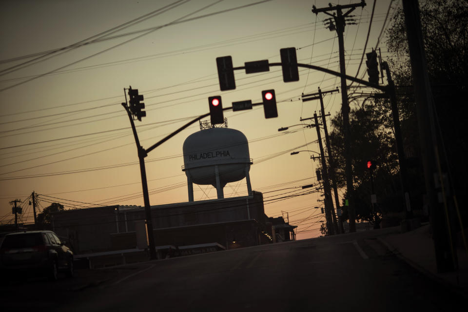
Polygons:
M468 107L468 3L461 0L420 1L424 49L435 109L437 141L442 171L448 173L450 194L468 190L466 116ZM387 31L390 68L395 83L412 84L409 50L402 9L398 9ZM407 144L419 156L418 130L412 88L399 88L402 131ZM425 193L422 190L422 193ZM453 197L451 197L453 198ZM459 200L460 201L460 200ZM449 203L450 204L450 203ZM466 210L461 211L468 218Z

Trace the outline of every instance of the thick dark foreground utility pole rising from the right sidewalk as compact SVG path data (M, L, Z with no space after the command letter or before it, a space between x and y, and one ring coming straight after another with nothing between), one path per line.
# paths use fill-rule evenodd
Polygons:
M437 143L434 109L432 106L431 88L428 77L426 55L421 32L419 3L415 0L403 0L406 33L408 36L409 59L413 76L416 112L418 117L421 158L424 167L429 220L434 241L434 252L437 272L455 271L456 249L450 239L450 225L447 206L441 207L435 183L440 183L444 191L444 178L441 172L439 147Z

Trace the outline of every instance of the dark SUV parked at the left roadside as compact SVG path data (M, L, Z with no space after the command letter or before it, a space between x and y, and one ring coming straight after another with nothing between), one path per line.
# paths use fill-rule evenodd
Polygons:
M6 234L0 246L2 273L29 271L47 273L57 280L59 271L72 277L73 252L52 231Z

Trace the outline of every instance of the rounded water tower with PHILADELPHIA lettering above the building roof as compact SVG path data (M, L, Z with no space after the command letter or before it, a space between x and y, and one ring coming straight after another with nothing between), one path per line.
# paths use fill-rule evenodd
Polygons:
M249 156L247 137L238 130L208 128L187 137L183 145L189 201L194 201L195 184L213 185L218 198L224 198L223 188L229 182L247 179L252 195L249 170L253 163Z

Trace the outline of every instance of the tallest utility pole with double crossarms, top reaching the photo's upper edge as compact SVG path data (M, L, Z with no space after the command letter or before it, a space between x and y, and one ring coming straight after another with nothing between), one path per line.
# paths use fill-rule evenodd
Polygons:
M339 57L340 57L340 73L341 73L341 115L343 117L343 138L345 148L345 172L346 172L346 189L349 201L348 213L350 217L350 232L356 232L356 221L355 221L355 209L353 200L353 185L352 185L352 165L351 165L351 142L349 138L350 133L350 105L348 103L348 90L346 87L346 64L345 64L345 47L343 40L343 33L345 32L346 21L345 18L352 12L356 7L364 7L366 1L361 0L360 3L347 4L347 5L335 5L328 8L317 9L315 5L312 6L312 13L316 15L323 12L331 18L333 18L336 26L336 34L338 35L339 45ZM342 9L349 9L346 13L342 12ZM336 14L331 14L329 11L336 11Z

